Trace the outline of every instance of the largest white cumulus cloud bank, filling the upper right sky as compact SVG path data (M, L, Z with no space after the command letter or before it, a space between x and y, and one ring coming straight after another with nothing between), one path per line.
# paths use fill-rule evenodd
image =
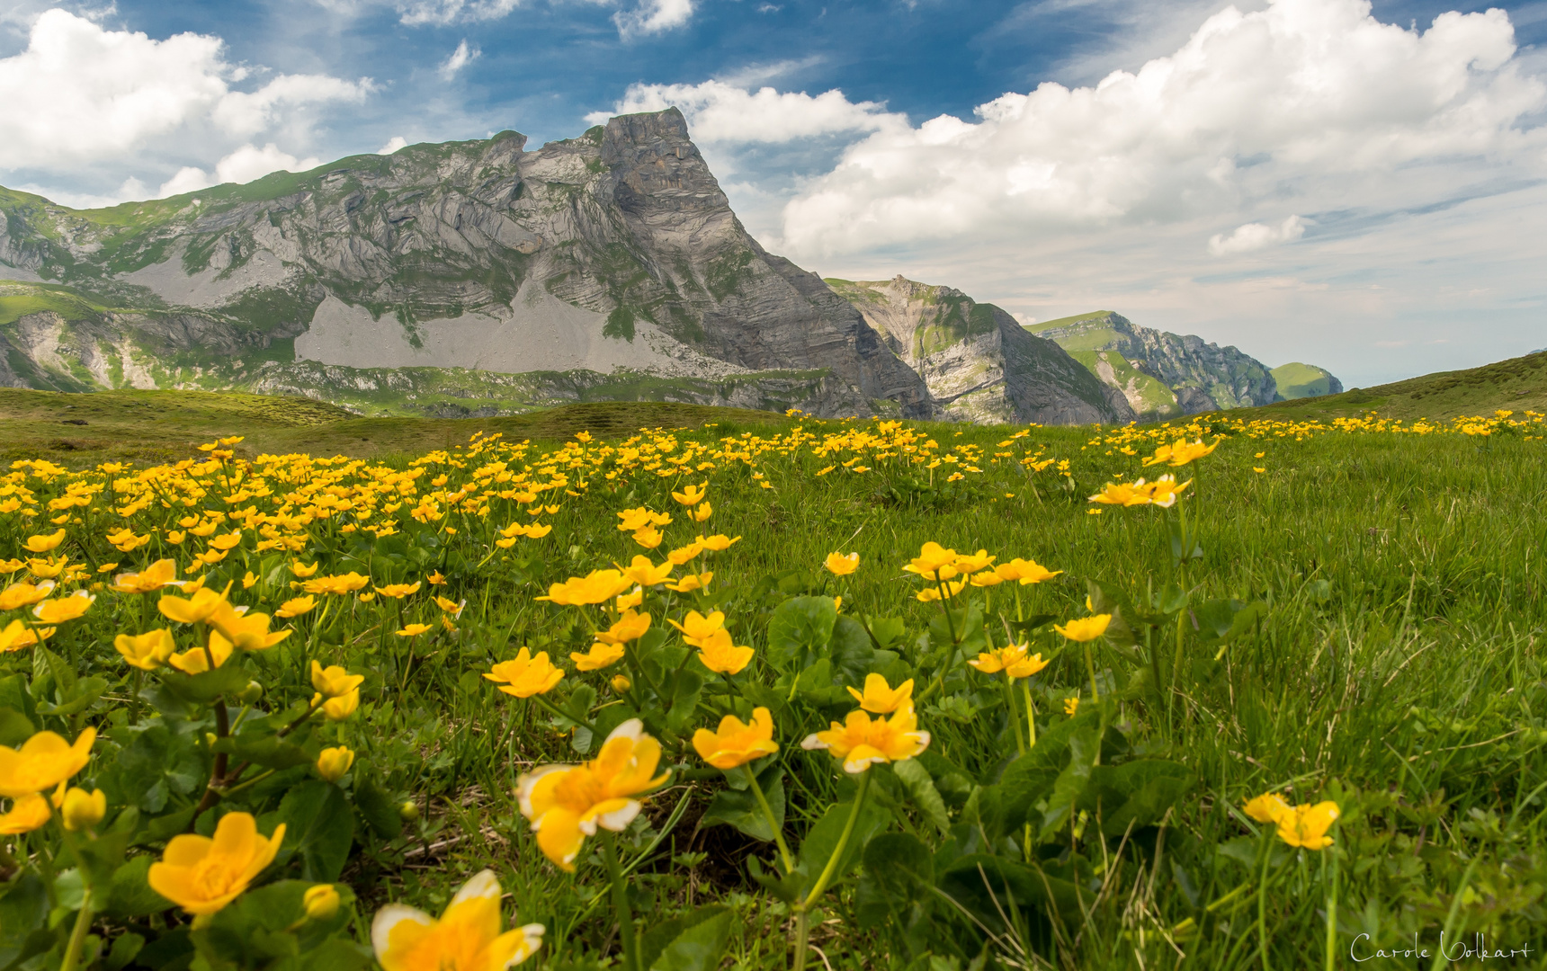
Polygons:
M1417 31L1377 22L1363 0L1227 8L1137 73L1009 93L975 121L880 124L789 203L783 243L821 255L985 229L1177 223L1284 193L1326 204L1456 158L1539 165L1542 128L1519 125L1544 104L1499 9ZM1244 227L1219 246L1245 252L1284 232Z

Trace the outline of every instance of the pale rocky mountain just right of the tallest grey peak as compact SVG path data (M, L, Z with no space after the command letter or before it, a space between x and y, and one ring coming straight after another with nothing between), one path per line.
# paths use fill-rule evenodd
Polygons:
M992 303L900 275L826 283L917 371L948 419L1071 425L1134 417L1120 393Z

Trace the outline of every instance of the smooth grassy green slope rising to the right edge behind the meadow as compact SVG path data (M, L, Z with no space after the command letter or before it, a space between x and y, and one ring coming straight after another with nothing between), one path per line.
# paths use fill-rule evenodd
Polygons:
M1261 417L1340 417L1375 411L1402 419L1450 419L1497 410L1547 411L1547 353L1253 408ZM1239 411L1231 414L1241 416Z

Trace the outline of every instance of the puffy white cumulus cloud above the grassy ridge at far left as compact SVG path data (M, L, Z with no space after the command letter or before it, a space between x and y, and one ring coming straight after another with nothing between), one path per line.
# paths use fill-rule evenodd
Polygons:
M0 170L60 175L97 162L133 167L141 153L164 155L167 145L204 158L224 153L215 165L221 179L221 167L251 172L243 159L266 159L252 165L274 161L272 170L297 159L272 145L234 152L232 145L282 124L303 136L305 125L292 124L297 111L357 104L374 90L370 79L328 74L278 74L237 90L252 71L227 63L223 48L218 37L203 34L155 40L63 9L42 12L26 48L0 59ZM207 184L210 176L187 165L167 184L193 186L201 178ZM133 190L138 182L127 186Z

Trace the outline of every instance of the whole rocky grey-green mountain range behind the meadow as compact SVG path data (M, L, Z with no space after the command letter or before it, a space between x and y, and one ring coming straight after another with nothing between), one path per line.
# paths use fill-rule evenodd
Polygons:
M674 108L535 152L503 131L111 209L0 189L0 213L9 387L1043 424L1341 388L1117 314L1021 328L945 286L825 281L746 232Z

